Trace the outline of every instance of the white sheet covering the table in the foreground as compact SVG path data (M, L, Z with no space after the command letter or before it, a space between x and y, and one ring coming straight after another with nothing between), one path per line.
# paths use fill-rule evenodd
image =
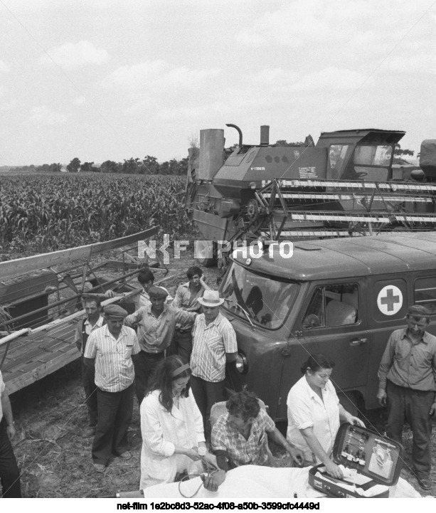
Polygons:
M208 492L201 486L196 499L292 499L294 493L298 498L324 497L309 486L307 478L309 467L306 468L271 468L245 465L227 472L225 481L218 492ZM181 492L191 496L201 485L200 477L181 483ZM164 485L155 485L144 490L144 497L168 497L180 499L179 483L171 482ZM398 484L390 489L390 497L421 497L420 494L400 477Z

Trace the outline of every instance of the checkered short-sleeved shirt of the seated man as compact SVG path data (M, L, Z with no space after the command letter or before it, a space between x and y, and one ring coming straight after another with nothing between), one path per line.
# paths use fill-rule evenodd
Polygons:
M212 428L212 448L225 450L234 465L266 465L267 434L275 430L275 423L265 410L260 410L251 425L250 436L245 440L239 431L228 423L228 413L220 416Z

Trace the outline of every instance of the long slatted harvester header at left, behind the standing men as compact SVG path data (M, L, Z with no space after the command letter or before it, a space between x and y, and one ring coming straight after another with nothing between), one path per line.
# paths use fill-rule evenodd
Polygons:
M105 297L111 288L122 293L122 306L133 312L129 297L142 288L129 282L137 276L141 263L127 251L137 254L137 241L154 236L158 229L0 263L0 305L6 312L2 317L11 317L0 322L0 370L9 393L79 358L74 334L78 319L85 315L84 294L100 295L103 305L119 302L119 295ZM102 253L120 248L124 248L122 261L102 261ZM99 255L100 263L95 264ZM123 270L122 275L101 275L107 268Z

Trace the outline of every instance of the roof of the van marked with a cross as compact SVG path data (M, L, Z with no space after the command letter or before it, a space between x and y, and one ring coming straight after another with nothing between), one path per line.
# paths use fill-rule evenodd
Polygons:
M233 260L246 267L241 252ZM280 256L275 245L273 258L265 250L252 258L250 269L299 281L436 270L436 233L296 241L292 258Z

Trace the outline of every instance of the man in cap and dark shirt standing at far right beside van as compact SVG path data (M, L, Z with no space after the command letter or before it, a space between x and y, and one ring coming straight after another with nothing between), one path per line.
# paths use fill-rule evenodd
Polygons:
M425 307L410 307L408 327L390 335L378 369L379 403L388 404L388 437L401 442L403 424L413 432L412 460L423 490L430 490L431 416L436 411L436 337L425 332L430 313Z

